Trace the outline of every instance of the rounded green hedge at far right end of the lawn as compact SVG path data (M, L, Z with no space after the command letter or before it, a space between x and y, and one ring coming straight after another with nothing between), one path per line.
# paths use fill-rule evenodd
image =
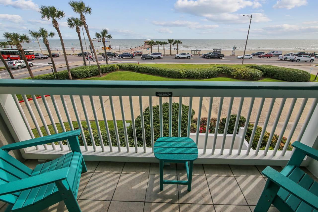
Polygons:
M307 82L310 80L310 74L300 69L268 65L249 65L246 67L258 69L263 72L263 76L277 80L289 82Z

